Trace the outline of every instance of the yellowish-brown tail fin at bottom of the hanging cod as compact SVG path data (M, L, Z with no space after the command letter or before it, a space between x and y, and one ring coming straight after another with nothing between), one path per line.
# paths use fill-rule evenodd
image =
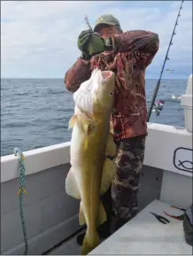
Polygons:
M90 236L89 233L86 233L81 247L81 255L87 255L89 252L95 249L99 243L100 240L97 230L92 236Z

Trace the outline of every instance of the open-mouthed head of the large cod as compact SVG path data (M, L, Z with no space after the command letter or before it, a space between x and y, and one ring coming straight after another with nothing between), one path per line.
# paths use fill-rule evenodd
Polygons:
M93 76L92 103L100 110L112 108L114 100L115 74L112 71L95 70Z

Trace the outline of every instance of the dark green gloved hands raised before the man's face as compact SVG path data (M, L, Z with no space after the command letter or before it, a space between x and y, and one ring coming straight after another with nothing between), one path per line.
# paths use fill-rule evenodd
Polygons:
M97 34L91 33L90 30L84 30L79 35L78 48L82 52L82 58L89 60L92 56L104 50L114 50L114 42L111 37L104 39Z

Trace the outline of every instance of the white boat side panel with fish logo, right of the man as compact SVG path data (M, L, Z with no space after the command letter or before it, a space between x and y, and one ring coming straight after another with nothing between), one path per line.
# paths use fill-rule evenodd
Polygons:
M148 123L148 133L144 165L191 177L192 173L181 171L174 166L174 151L181 147L192 150L192 135L184 128L158 123ZM192 151L178 151L177 157L180 159L176 161L192 161Z

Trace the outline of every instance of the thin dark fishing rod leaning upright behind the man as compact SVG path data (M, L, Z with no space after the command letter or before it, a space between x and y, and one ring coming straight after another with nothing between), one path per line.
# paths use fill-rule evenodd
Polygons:
M155 103L155 99L157 97L157 94L158 94L158 89L159 89L159 85L160 85L160 81L161 81L161 78L162 78L162 74L164 72L164 68L165 68L165 65L166 65L166 60L169 60L168 58L168 53L169 53L169 50L170 50L170 46L173 45L173 37L174 35L176 35L175 33L175 27L178 26L178 19L179 17L181 16L181 9L182 9L182 4L183 4L184 0L181 1L181 7L180 7L180 10L178 12L178 16L177 16L177 19L175 21L175 24L174 24L174 30L173 30L173 33L172 33L172 36L171 36L171 39L170 39L170 43L168 45L168 48L167 48L167 51L166 51L166 57L165 57L165 60L164 60L164 64L162 66L162 69L161 69L161 73L160 73L160 76L159 76L159 79L157 81L157 84L156 84L156 87L154 89L154 92L153 92L153 96L152 96L152 100L151 100L151 106L148 110L148 119L147 121L149 121L151 119L151 112L152 112L152 109L153 109L153 105Z

